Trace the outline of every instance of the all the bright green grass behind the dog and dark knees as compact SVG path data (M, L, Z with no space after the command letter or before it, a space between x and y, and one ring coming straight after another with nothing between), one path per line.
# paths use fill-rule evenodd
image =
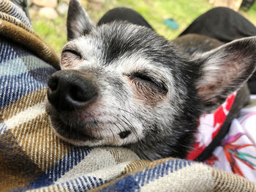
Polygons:
M85 4L86 7L87 4ZM105 0L100 9L87 9L95 23L109 9L114 7L129 7L140 12L151 26L167 39L174 39L184 31L195 18L212 8L207 0ZM249 12L241 11L241 14L256 25L256 4ZM60 53L61 48L67 42L66 30L67 15L59 16L55 20L39 18L37 14L31 14L34 31L45 40L45 42ZM167 28L163 20L173 18L179 25L178 30L173 31Z

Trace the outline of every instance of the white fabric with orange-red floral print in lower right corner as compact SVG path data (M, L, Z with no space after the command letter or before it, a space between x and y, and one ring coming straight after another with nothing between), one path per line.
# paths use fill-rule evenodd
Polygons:
M256 96L251 97L252 104L233 120L222 144L206 163L256 183Z

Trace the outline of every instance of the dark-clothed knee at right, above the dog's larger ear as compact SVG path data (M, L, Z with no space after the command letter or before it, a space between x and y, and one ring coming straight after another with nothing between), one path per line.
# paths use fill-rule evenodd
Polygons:
M200 15L180 36L184 34L202 34L226 43L255 36L256 28L238 12L227 7L216 7Z

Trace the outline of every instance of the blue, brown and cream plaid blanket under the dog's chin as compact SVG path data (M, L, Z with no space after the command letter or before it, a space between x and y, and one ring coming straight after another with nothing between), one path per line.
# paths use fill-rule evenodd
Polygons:
M0 0L0 34L0 191L256 191L206 164L62 142L45 113L59 58L7 0Z

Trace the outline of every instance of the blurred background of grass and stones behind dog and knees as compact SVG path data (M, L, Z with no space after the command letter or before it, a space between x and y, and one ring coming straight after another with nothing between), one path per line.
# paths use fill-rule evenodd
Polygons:
M80 0L91 20L114 7L129 7L140 12L151 26L167 39L175 39L192 20L218 6L230 7L256 26L255 0ZM67 42L67 9L69 0L29 0L29 14L34 31L45 42L61 52Z

